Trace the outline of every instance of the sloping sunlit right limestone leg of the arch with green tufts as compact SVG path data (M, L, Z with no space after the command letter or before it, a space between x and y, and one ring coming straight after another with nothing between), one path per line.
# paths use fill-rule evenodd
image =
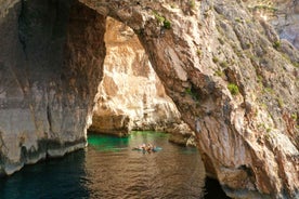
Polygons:
M240 1L82 2L139 35L227 194L298 196L298 51L266 21Z

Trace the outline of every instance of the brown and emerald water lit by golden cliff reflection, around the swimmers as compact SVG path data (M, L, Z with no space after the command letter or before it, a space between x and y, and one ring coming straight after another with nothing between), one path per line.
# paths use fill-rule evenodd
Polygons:
M132 150L142 143L162 148ZM167 134L133 132L129 138L90 135L87 184L92 198L200 198L205 171L195 148L168 143Z

